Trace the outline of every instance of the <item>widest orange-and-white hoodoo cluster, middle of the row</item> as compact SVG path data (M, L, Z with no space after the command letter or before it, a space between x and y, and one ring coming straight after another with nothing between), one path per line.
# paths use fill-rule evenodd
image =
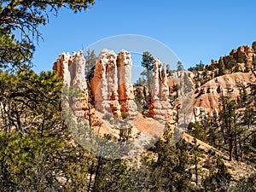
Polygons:
M131 54L125 50L116 55L112 50L103 49L98 56L90 84L96 109L100 112L129 119L137 115L131 84L131 65Z

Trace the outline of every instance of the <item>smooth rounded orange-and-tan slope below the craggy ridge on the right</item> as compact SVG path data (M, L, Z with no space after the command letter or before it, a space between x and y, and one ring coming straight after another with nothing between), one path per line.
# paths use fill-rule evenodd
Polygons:
M212 114L213 111L218 113L220 96L230 96L231 99L239 100L243 89L254 81L255 77L252 73L225 74L208 81L195 90L194 113L191 114L193 117L189 118L198 121L202 114Z

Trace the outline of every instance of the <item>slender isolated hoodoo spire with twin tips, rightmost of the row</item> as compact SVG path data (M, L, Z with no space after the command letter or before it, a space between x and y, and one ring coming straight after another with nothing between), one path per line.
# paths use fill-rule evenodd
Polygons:
M166 64L161 73L161 62L154 61L154 84L152 90L151 103L148 107L148 116L162 123L172 124L172 106L169 102L169 87L167 84Z

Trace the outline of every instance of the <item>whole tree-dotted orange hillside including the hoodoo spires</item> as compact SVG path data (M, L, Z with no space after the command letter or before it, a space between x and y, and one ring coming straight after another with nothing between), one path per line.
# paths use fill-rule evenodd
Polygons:
M172 169L173 189L239 188L255 176L254 54L241 46L210 65L175 72L154 59L149 87L131 84L131 53L125 49L103 49L91 72L82 52L62 54L54 69L69 89L81 92L64 97L62 109L74 123L82 119L71 127L74 143L91 150L87 138L93 135L96 146L105 143L106 151L97 155L122 157L142 170L138 175ZM91 74L85 77L86 70ZM166 175L157 177L148 182L167 184ZM179 186L180 179L187 185Z

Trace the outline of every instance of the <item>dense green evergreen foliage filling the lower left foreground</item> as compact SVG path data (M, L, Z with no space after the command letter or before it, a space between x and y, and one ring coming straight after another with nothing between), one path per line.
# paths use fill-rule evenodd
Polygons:
M61 79L30 70L2 72L0 79L1 102L9 109L0 113L1 190L84 190L91 159L73 145L64 124Z

